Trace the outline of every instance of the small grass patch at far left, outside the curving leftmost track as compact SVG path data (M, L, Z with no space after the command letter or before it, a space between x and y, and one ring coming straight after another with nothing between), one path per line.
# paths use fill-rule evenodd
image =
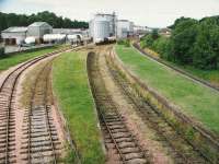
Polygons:
M32 52L19 52L19 54L9 55L3 58L0 58L0 72L9 69L10 67L16 66L21 62L32 59L34 57L54 51L55 49L58 49L58 48L59 47L50 47L50 48L41 49L41 50L32 51Z

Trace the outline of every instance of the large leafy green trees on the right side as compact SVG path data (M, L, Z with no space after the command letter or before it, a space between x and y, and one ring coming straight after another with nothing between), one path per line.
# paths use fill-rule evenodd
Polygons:
M158 31L141 39L142 47L158 51L162 58L199 69L219 69L219 16L199 21L181 17L170 26L171 37Z

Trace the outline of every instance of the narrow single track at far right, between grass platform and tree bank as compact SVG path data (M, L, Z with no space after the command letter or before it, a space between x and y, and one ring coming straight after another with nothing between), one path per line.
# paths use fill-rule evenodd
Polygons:
M172 66L172 65L170 65L170 63L163 61L162 59L159 59L159 58L155 58L155 57L152 57L152 56L148 55L146 51L143 51L143 50L139 47L139 45L138 45L137 43L135 43L132 46L134 46L138 51L140 51L142 55L145 55L145 56L151 58L152 60L155 60L157 62L159 62L159 63L161 63L161 65L164 65L164 66L166 66L168 68L171 68L172 70L174 70L174 71L176 71L176 72L178 72L178 73L181 73L181 74L183 74L183 75L185 75L185 77L187 77L187 78L189 78L189 79L192 79L192 80L194 80L194 81L196 81L196 82L198 82L198 83L201 83L201 84L205 85L205 86L208 86L208 87L210 87L210 89L212 89L212 90L219 92L219 86L215 86L215 85L212 85L211 83L209 83L209 82L207 82L207 81L205 81L205 80L201 80L201 79L199 79L199 78L196 78L196 77L194 77L193 74L191 74L191 73L188 73L188 72L186 72L186 71L184 71L184 70L182 70L182 69L178 69L178 68L176 68L176 67L174 67L174 66Z

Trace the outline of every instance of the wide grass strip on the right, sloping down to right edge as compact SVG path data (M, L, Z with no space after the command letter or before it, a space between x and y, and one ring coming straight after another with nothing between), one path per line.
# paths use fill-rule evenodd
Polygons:
M116 46L122 61L147 84L219 134L219 93L141 56L132 48Z

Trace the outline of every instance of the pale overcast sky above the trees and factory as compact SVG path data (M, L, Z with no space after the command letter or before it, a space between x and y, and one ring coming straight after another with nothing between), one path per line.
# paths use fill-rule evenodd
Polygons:
M219 15L219 0L0 0L2 12L31 14L45 10L84 21L95 12L115 11L118 19L164 27L180 16L201 19Z

